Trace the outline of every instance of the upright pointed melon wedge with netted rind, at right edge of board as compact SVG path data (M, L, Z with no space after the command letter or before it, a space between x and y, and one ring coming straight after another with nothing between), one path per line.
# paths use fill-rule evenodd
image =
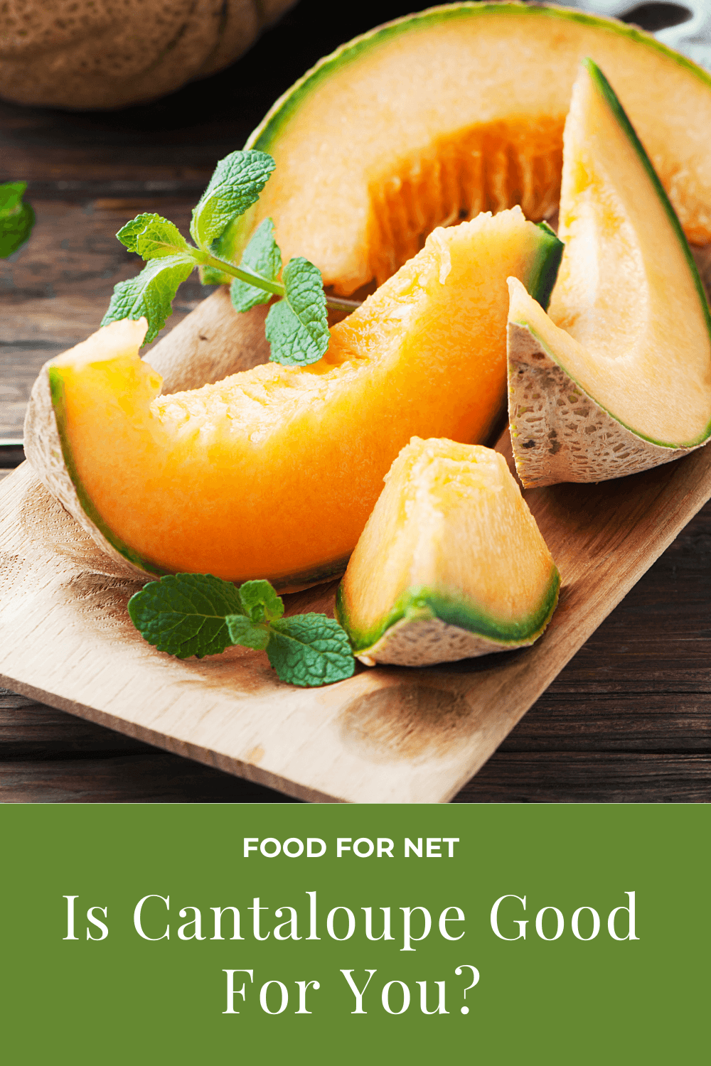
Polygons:
M587 61L565 127L549 316L511 285L510 419L524 485L603 481L711 434L711 318L683 232Z

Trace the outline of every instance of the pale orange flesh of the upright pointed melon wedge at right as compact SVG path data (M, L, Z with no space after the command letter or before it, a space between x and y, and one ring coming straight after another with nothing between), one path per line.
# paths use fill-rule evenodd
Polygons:
M683 235L600 78L581 69L565 128L554 351L633 432L689 445L711 426L711 321Z

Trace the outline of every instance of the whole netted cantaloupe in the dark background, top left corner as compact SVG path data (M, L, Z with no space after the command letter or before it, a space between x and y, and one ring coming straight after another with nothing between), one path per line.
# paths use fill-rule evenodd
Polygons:
M0 96L123 108L214 74L294 0L5 0Z

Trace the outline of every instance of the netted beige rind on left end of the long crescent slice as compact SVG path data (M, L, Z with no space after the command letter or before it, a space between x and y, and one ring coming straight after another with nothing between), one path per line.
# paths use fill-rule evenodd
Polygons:
M51 360L42 368L30 393L23 429L26 457L47 491L62 504L104 554L127 575L152 581L158 575L135 566L117 551L81 504L75 483L67 470L64 447L56 424L49 383L50 366Z

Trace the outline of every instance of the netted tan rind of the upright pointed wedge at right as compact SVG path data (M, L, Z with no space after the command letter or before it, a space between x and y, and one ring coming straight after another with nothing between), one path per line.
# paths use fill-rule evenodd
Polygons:
M530 325L508 322L508 421L524 488L641 473L700 448L652 443L601 407L552 358Z

